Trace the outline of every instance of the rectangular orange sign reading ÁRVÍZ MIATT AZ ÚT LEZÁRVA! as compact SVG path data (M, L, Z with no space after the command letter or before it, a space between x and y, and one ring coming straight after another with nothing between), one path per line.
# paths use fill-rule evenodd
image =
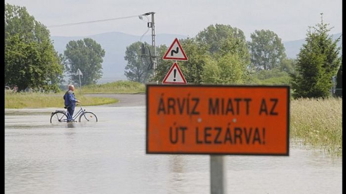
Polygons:
M147 85L147 154L289 156L289 86Z

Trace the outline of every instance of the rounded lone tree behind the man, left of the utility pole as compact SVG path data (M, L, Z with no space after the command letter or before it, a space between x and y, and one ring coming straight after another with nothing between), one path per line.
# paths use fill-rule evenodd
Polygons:
M84 85L96 84L102 76L102 62L105 51L91 38L71 40L66 45L64 55L67 59L67 71L72 83L79 83L78 69L83 73L81 82Z

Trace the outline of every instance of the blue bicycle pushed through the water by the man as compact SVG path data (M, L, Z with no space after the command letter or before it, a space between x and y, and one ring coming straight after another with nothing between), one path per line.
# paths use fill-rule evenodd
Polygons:
M86 109L82 108L82 103L79 104L80 109L77 113L72 117L72 122L77 122L77 118L79 117L79 122L97 122L97 117L94 113L86 111ZM65 107L66 108L66 107ZM70 113L64 110L56 110L51 113L50 123L61 123L68 122L68 118L70 118Z

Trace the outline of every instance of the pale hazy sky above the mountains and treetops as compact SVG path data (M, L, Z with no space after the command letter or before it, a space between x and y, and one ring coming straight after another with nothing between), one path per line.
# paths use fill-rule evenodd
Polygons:
M156 33L190 37L210 24L229 24L247 39L255 30L268 29L282 40L305 37L308 26L329 23L331 33L342 32L342 0L5 0L25 6L46 26L140 15L154 11ZM138 17L49 28L52 36L85 36L104 32L142 35L147 24ZM150 34L150 31L147 33Z

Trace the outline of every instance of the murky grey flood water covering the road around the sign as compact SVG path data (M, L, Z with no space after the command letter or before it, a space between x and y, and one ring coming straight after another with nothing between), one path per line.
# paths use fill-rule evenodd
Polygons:
M146 155L145 107L89 106L97 123L49 123L55 108L5 111L6 194L209 194L209 155ZM229 194L341 194L342 159L226 156Z

